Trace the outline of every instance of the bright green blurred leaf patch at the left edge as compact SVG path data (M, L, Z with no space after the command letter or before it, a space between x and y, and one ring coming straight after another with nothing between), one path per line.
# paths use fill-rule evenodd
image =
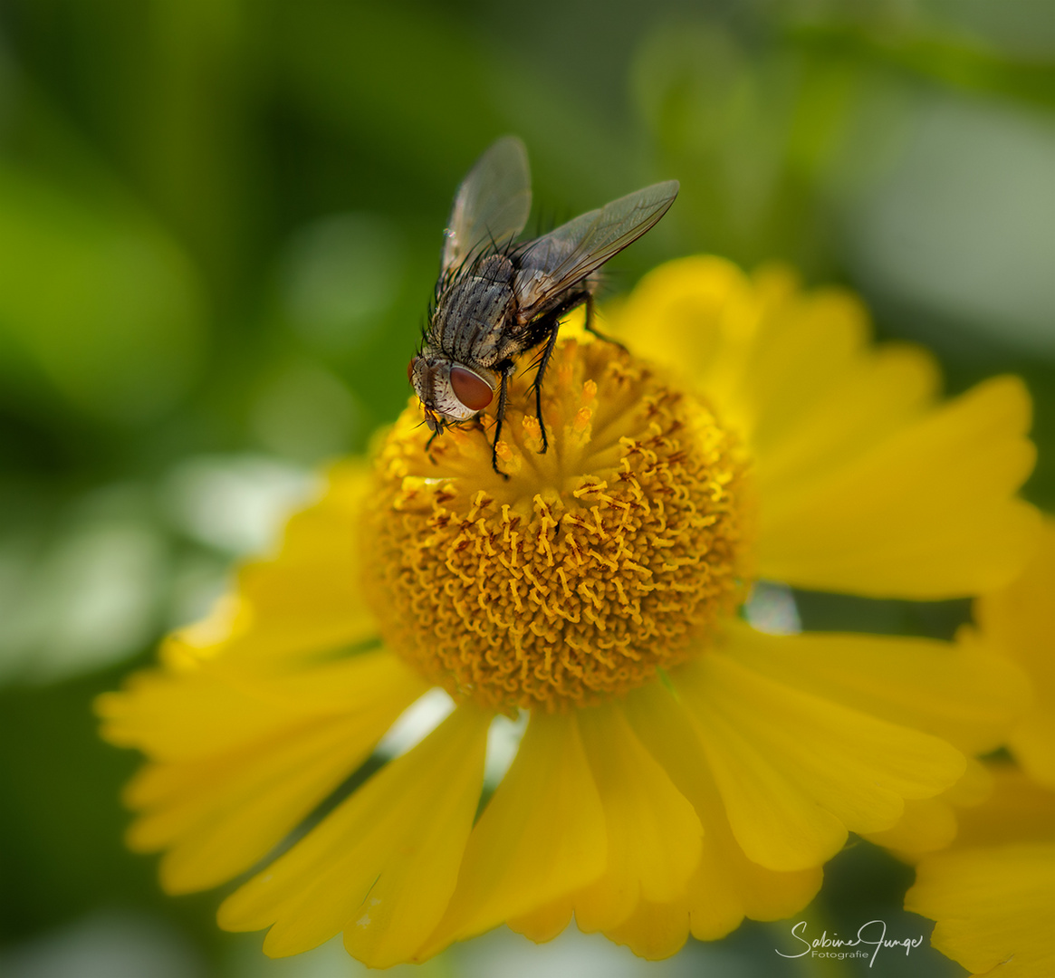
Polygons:
M204 315L193 267L143 215L0 164L0 333L73 407L132 425L171 407Z

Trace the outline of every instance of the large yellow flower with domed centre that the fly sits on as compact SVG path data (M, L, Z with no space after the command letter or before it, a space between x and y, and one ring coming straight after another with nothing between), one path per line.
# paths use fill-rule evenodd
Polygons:
M565 327L546 455L523 379L507 481L490 423L426 453L411 403L371 469L335 466L274 559L100 699L104 735L149 758L130 844L165 851L166 889L268 860L219 921L270 927L271 955L343 931L385 966L574 913L658 958L795 913L848 831L891 829L1000 743L999 656L763 634L736 609L760 578L918 599L1010 581L1036 520L1013 496L1022 385L940 402L928 357L870 345L852 298L716 258L659 268L608 326L649 361ZM453 712L376 752L430 686ZM482 790L488 730L518 713Z

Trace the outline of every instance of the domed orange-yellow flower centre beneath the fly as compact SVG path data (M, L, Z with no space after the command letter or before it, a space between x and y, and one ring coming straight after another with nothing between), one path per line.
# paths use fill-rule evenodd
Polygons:
M457 699L564 709L706 646L743 595L746 460L710 409L614 344L563 342L543 388L428 452L416 400L384 441L364 587L385 643Z

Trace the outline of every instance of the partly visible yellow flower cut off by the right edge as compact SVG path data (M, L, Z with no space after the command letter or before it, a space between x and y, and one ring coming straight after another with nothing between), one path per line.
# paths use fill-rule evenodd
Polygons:
M1022 575L975 606L967 636L1016 660L1033 703L1008 744L1021 767L992 765L992 798L959 818L955 846L923 859L905 908L938 923L932 943L976 974L1055 974L1055 522Z

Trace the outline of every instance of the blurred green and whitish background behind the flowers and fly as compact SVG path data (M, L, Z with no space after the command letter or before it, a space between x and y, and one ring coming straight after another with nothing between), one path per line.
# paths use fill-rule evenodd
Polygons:
M614 291L696 251L784 258L931 345L952 391L1021 373L1027 494L1055 510L1053 55L1051 0L3 0L0 976L360 973L338 945L268 962L216 894L162 897L120 842L136 759L90 704L395 417L452 195L498 135L530 149L539 227L680 179ZM968 613L794 599L808 628ZM851 847L808 915L928 933L910 879ZM789 943L749 925L647 964L498 932L421 973L866 973ZM923 948L870 974L962 972Z

